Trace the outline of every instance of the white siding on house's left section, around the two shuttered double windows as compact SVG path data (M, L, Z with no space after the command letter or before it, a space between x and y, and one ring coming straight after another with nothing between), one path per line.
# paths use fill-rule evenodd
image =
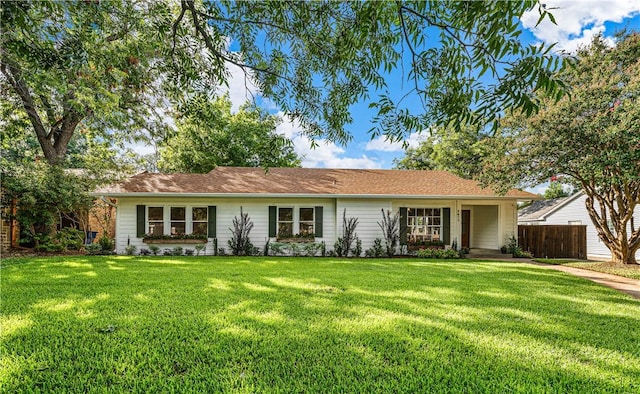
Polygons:
M332 199L238 199L238 198L120 198L118 204L118 214L116 220L116 251L124 253L127 241L131 245L135 245L138 251L141 248L148 249L148 245L142 242L141 238L136 237L136 205L146 206L163 206L165 212L169 207L206 207L214 205L217 207L216 217L216 235L218 239L218 248L225 248L229 253L227 245L231 238L230 228L233 227L233 218L240 217L240 207L242 211L249 214L249 218L253 222L253 229L250 233L251 242L254 246L263 249L269 234L269 206L287 206L287 207L315 207L322 206L323 209L323 237L316 238L316 242L325 241L327 245L333 245L335 232L335 203ZM273 239L272 239L273 240ZM161 249L172 248L174 246L183 246L184 248L193 249L194 245L176 244L160 244ZM212 239L209 239L206 248L206 254L213 254Z

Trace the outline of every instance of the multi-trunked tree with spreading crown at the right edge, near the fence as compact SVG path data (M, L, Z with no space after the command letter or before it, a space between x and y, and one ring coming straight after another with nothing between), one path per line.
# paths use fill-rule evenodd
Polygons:
M586 209L616 263L635 264L640 226L640 35L610 47L602 37L578 52L562 77L571 97L503 123L490 141L482 180L506 190L556 174L580 185ZM634 221L635 219L635 221Z

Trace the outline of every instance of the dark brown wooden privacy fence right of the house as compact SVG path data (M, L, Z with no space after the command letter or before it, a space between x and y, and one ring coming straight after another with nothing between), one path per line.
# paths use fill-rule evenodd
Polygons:
M534 257L586 260L587 226L518 226L518 245Z

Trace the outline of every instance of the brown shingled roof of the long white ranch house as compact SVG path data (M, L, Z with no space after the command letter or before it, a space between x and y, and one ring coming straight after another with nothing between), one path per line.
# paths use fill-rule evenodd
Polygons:
M510 197L537 195L510 190L505 196L446 171L357 170L325 168L217 167L207 174L143 172L94 194L174 195L326 195Z

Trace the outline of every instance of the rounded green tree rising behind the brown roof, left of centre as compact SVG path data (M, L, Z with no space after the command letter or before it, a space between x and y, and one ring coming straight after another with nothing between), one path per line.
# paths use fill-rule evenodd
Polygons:
M246 104L231 112L227 96L196 96L160 148L164 171L205 173L216 166L298 167L291 141L276 133L279 118Z

